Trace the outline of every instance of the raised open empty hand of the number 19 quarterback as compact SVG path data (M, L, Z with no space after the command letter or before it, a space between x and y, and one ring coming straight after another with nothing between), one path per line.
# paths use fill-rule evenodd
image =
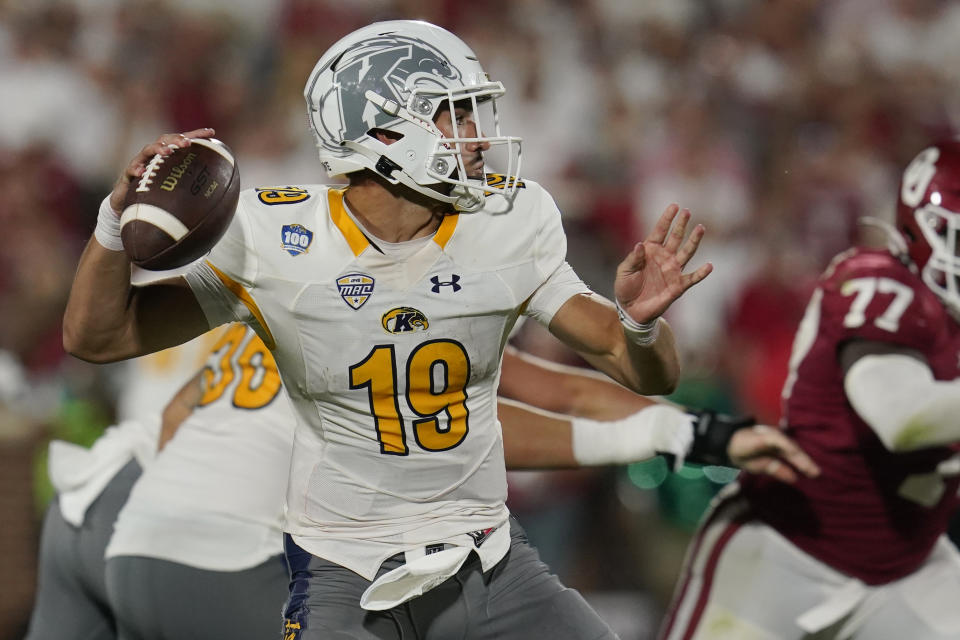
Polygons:
M678 212L679 219L674 225ZM679 206L671 204L660 216L653 232L617 267L614 294L623 310L635 321L651 322L660 317L684 291L713 270L713 265L708 262L693 273L683 273L704 234L703 225L698 224L684 241L689 221L689 210L681 211Z

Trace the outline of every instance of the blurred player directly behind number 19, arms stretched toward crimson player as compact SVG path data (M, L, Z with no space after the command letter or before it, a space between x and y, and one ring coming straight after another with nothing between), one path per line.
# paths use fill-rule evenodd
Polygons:
M508 467L687 454L695 420L679 408L515 350L504 355L503 371L502 393L586 418L501 401ZM120 638L255 640L276 631L289 584L281 524L296 423L283 395L263 342L233 325L170 402L160 436L167 444L137 482L106 549L109 609ZM740 430L729 451L741 464L768 455L804 464L773 431Z

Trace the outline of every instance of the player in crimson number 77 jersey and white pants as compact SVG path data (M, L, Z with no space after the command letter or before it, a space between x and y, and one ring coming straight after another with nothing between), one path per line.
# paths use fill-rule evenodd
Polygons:
M743 477L688 551L664 640L960 638L960 139L901 181L888 250L851 249L797 331L782 423L819 464Z

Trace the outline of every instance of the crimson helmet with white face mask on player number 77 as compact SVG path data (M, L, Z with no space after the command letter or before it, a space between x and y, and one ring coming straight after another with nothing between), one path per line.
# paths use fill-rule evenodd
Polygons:
M896 224L911 266L960 315L960 138L927 147L907 165Z

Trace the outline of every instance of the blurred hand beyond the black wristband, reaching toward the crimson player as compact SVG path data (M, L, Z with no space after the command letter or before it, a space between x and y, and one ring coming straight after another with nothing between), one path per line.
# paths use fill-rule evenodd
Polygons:
M797 472L810 478L820 475L820 467L796 442L765 424L737 430L730 438L727 455L744 471L773 476L782 482L796 482Z

